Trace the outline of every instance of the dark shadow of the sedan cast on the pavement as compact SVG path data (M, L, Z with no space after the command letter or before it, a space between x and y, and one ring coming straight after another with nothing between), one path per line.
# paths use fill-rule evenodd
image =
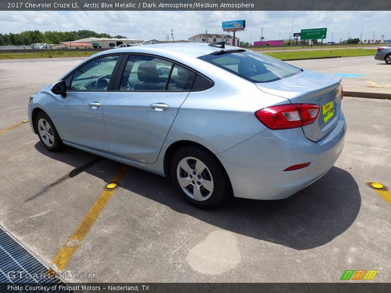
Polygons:
M42 154L85 171L109 183L108 174L122 164L66 147L63 152ZM88 164L90 161L96 164ZM104 165L109 172L97 172ZM87 166L82 170L81 166ZM72 173L72 172L71 172ZM49 184L49 183L48 183ZM359 188L345 170L332 167L321 179L295 195L276 201L233 198L214 210L197 209L185 202L166 178L130 167L119 186L170 209L188 214L220 229L284 245L296 250L319 247L341 235L354 222L361 206Z

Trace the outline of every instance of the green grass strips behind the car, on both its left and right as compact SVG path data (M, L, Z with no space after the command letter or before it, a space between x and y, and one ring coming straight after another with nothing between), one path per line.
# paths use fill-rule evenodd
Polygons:
M259 51L259 50L257 50ZM84 51L47 51L40 53L9 53L1 54L0 59L30 59L30 58L63 58L63 57L88 57L96 52ZM265 55L281 59L311 59L319 57L355 57L375 55L375 49L332 49L329 50L303 50L303 51L282 51L282 52L262 52Z

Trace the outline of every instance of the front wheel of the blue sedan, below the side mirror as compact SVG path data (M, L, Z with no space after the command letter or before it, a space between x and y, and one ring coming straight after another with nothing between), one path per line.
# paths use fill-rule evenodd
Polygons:
M47 139L46 139L45 135L42 135L42 131L45 131L45 129L43 129L42 125L39 125L40 120L42 120L44 126L46 126L46 124L48 124L48 126L49 126L49 127L47 127L47 129L49 129L49 130L47 130L48 131L47 132L48 133ZM43 146L46 147L46 149L53 151L53 152L56 152L56 151L61 150L62 147L64 146L63 141L61 140L60 136L58 135L56 127L54 126L54 124L51 121L51 119L49 118L49 116L46 115L46 113L39 112L37 114L37 116L35 117L35 129L37 130L38 137L40 138ZM41 129L41 131L40 131L40 129ZM49 138L49 135L50 135L50 138ZM52 141L52 140L54 140L54 141ZM46 143L45 141L48 141L48 143Z

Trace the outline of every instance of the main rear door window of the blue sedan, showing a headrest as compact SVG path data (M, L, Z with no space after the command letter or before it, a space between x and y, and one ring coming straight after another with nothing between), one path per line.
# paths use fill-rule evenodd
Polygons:
M165 90L173 63L152 56L130 55L122 75L120 90Z

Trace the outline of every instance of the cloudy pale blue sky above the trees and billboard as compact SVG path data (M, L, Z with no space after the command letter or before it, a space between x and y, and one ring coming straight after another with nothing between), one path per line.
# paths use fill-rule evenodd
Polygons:
M296 17L297 16L297 17ZM246 20L246 31L237 33L241 41L259 41L261 27L265 40L288 39L289 33L305 28L327 27L326 41L349 37L391 39L391 11L0 11L0 32L24 30L71 31L88 29L131 39L165 40L174 29L175 40L204 33L222 33L221 21Z

